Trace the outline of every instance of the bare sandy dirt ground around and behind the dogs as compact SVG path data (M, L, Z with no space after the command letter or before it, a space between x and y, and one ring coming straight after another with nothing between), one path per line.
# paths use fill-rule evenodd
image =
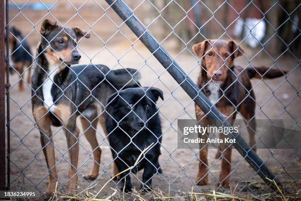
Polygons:
M24 15L30 19L36 20L43 16L43 13L30 10L24 10ZM85 19L93 21L93 15L90 10L81 11ZM16 10L11 10L11 18L13 18ZM60 20L68 19L62 16L61 12L55 12L59 15ZM95 17L96 18L96 17ZM106 21L107 20L107 21ZM109 23L106 19L103 25ZM117 20L117 18L116 18ZM32 26L25 25L26 19L16 18L13 20L15 26L22 26L24 33L30 33ZM84 26L83 21L72 20L70 26ZM67 25L69 26L69 24ZM39 27L39 26L37 26ZM117 31L112 24L106 26L95 26L92 28L90 39L84 39L79 45L79 51L82 54L81 64L92 62L94 64L104 64L110 68L132 67L139 69L142 74L141 83L143 86L155 86L160 88L164 93L164 101L158 101L160 116L162 120L163 140L162 155L159 158L163 173L155 175L153 178L153 187L159 188L165 192L173 192L177 194L179 191L190 191L194 186L194 180L198 171L198 150L177 149L177 119L194 119L194 102L179 87L178 83L169 75L168 72L151 56L150 52L143 46L140 41L135 42L134 48L131 48L130 41L135 41L135 37L130 31L123 27L124 34L128 36L130 41L125 39L120 33L116 33L104 47L104 43L95 35L106 41ZM87 26L83 27L87 29ZM28 41L35 52L39 36L37 33L30 33ZM190 54L188 49L181 51L174 48L175 41L169 39L164 42L163 46L175 58L175 61L189 74L190 78L196 81L199 67L197 59ZM292 125L298 124L301 114L301 101L299 91L301 88L301 68L300 61L291 56L280 56L275 62L267 56L263 51L255 56L256 51L246 47L246 58L240 57L236 60L236 64L246 67L250 64L256 65L275 65L286 70L290 70L286 79L284 77L273 80L252 80L257 100L256 118L257 119L289 119ZM294 69L294 70L293 70ZM293 70L293 71L291 71ZM27 74L25 74L25 77ZM47 188L48 170L44 155L41 151L39 140L39 132L34 127L34 120L31 113L30 103L30 86L26 85L26 89L22 92L18 91L17 83L20 77L15 73L10 76L12 88L10 90L10 136L11 136L11 186L15 189L31 190L38 189L43 192ZM78 122L80 124L80 122ZM66 140L60 128L53 128L54 143L56 146L57 171L59 174L59 188L61 184L67 181L67 153ZM97 185L92 189L98 191L106 181L110 179L113 172L112 156L107 140L98 125L97 138L101 143L102 157L100 166L100 176L96 181ZM90 171L93 160L91 157L91 149L88 141L83 136L81 130L80 156L78 173L87 174ZM220 172L220 161L214 159L215 150L209 151L210 167L210 184L207 186L197 186L197 191L213 190L218 181ZM292 186L301 186L301 161L300 151L290 149L258 150L258 155L285 184ZM138 173L141 179L142 173ZM132 178L134 178L132 176ZM263 181L256 172L247 164L241 155L234 150L232 156L232 173L231 185L235 186L239 183L238 189L241 191L260 193L266 189L262 184ZM140 189L137 179L133 179L133 185L136 189ZM79 176L79 187L87 188L89 185L96 184L85 181ZM262 188L259 188L261 185ZM116 184L110 182L101 195L112 193L111 188L116 188ZM256 188L259 188L256 189ZM219 189L221 190L221 189Z

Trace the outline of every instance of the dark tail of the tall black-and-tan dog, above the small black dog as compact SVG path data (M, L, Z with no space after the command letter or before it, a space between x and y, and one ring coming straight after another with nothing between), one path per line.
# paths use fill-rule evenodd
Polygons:
M114 87L121 88L123 86L139 86L139 80L141 74L138 70L133 68L122 68L117 70L111 70L106 75L106 80L110 82Z

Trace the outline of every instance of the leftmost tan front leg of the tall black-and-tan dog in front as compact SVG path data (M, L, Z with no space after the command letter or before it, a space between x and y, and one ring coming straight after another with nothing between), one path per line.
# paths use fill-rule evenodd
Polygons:
M43 148L43 153L46 159L46 164L49 169L49 182L47 190L43 193L43 197L49 198L53 195L58 179L55 161L55 151L53 146L51 119L48 110L45 107L33 108L33 117L40 131L40 140Z

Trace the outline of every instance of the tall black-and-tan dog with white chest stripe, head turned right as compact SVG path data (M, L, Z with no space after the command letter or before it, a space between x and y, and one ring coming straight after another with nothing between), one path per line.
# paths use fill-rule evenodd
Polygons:
M48 198L53 195L58 180L51 126L62 127L66 135L69 153L66 187L72 193L78 180L80 131L76 118L81 118L83 131L94 156L91 173L85 178L96 179L101 157L101 149L96 139L97 122L100 122L107 134L104 125L104 107L107 100L124 85L136 86L140 73L132 68L111 70L104 65L75 65L81 59L76 49L78 41L82 37L90 37L89 33L78 27L61 27L46 19L40 33L41 41L31 77L31 104L49 170L48 187L43 194ZM102 114L99 115L100 113ZM114 174L116 173L115 168Z

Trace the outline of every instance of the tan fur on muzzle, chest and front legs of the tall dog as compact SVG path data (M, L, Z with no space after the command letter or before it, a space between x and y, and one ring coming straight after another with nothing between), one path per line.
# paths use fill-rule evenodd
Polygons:
M56 23L54 22L45 20L42 24L40 32L44 34L44 36L45 34L51 33L51 31L53 30L52 26L55 24ZM67 44L68 46L62 49L54 50L50 47L45 48L43 54L45 56L46 61L42 61L43 59L39 57L37 59L38 64L41 66L41 64L49 64L51 62L59 66L60 68L59 72L60 70L63 70L66 67L66 65L63 64L62 59L64 59L64 62L71 61L71 52L74 49L74 43L67 43ZM70 46L71 44L72 47ZM39 44L39 47L40 45L41 43ZM39 69L36 70L35 73L42 73L43 71L44 70L39 67ZM36 79L33 80L39 81ZM36 83L34 82L33 86L35 86L35 84ZM48 187L46 192L44 192L43 196L48 198L53 195L57 178L58 178L58 174L55 167L56 161L55 161L55 151L53 146L54 142L52 139L52 131L50 128L51 125L58 126L56 125L56 123L54 123L54 118L57 119L56 121L60 122L60 125L62 125L63 131L67 139L67 149L68 149L69 160L70 160L69 169L68 169L69 180L67 182L67 190L69 191L69 193L72 193L76 189L77 180L78 180L77 166L78 166L78 155L79 155L79 144L78 144L79 129L76 125L76 117L79 114L77 112L74 112L74 108L72 108L72 103L68 100L57 101L56 104L54 105L55 107L51 112L49 111L49 108L47 108L43 104L43 102L41 102L41 100L37 99L35 96L34 98L32 98L31 101L32 101L33 117L36 121L38 129L40 130L41 145L45 155L47 167L50 169ZM88 141L92 145L92 142L89 139L90 138L88 138Z

